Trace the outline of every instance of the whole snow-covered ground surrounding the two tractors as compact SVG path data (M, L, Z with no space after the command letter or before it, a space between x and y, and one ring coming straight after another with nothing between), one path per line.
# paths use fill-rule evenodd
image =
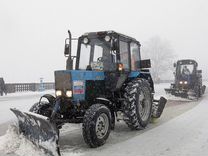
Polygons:
M207 83L206 83L207 84ZM131 131L120 121L106 144L91 149L82 138L81 124L67 124L61 130L60 149L63 156L207 156L208 155L208 94L200 100L168 96L157 84L156 97L165 96L168 103L160 119L146 129ZM45 92L14 93L0 97L0 155L45 156L24 136L17 133L16 118L9 108L28 109Z

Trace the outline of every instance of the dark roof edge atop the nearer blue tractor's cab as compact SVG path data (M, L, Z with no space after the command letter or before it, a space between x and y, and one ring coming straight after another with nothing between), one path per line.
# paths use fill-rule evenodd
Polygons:
M139 42L139 41L137 41L133 37L130 37L130 36L127 36L127 35L124 35L124 34L121 34L121 33L117 33L117 32L112 31L112 30L109 30L109 31L98 31L98 32L88 32L88 33L85 33L82 36L97 37L97 36L102 36L102 35L117 35L117 36L122 36L122 37L124 37L126 39L129 39L129 40L132 40L132 41Z

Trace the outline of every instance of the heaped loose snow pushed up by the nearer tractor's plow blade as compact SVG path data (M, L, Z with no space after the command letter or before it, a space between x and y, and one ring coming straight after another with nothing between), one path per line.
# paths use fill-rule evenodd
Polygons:
M55 156L58 156L54 142L41 142L40 145L51 151ZM0 137L0 155L6 156L7 154L15 156L50 156L43 149L36 147L23 135L20 135L15 124L10 125L6 134ZM82 154L64 150L61 152L61 155L80 156Z

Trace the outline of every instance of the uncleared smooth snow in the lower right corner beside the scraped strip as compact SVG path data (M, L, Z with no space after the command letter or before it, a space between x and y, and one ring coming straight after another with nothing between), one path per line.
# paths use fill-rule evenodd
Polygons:
M208 97L175 119L108 148L85 156L207 156Z

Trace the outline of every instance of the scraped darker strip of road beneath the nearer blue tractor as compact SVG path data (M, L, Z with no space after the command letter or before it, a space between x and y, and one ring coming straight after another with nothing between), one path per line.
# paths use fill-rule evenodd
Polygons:
M62 133L60 138L61 151L63 151L63 153L65 153L66 151L69 153L83 153L84 155L91 155L91 153L94 155L98 155L98 153L101 154L105 150L108 151L109 147L120 146L120 143L128 142L128 140L143 135L146 132L154 129L155 127L168 123L169 121L171 121L171 119L174 119L177 116L183 114L184 112L191 110L193 107L198 105L198 103L199 101L190 102L186 100L171 100L168 102L168 105L164 110L162 117L156 123L149 124L146 129L141 131L131 131L124 122L118 122L116 123L115 130L111 131L107 143L103 147L100 147L98 149L90 149L87 147L81 135L82 131L80 125L80 127L78 127L76 130L64 131L64 133ZM126 146L121 146L121 148L126 149ZM125 152L121 154L125 155ZM105 155L105 152L103 153L103 155ZM114 154L112 153L112 155Z

